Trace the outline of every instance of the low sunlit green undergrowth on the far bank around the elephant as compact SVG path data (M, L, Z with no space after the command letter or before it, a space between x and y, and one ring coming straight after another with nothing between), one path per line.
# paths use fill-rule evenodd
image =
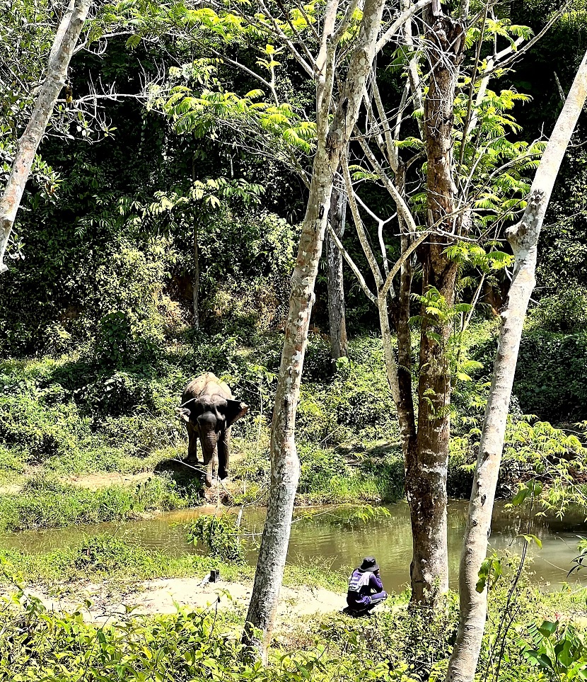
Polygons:
M472 356L489 358L494 324L472 326ZM183 385L214 370L250 405L233 427L231 482L223 504L263 506L270 476L269 421L279 334L221 343L176 339L148 365L101 365L81 348L59 357L0 363L0 530L124 521L204 504L199 474L182 465L185 429L175 414ZM477 357L477 356L475 356ZM487 384L484 372L453 392L448 494L467 498ZM564 497L581 487L587 451L581 433L523 417L516 399L506 432L498 496L519 483L558 475ZM403 499L395 407L380 341L356 338L333 367L313 336L296 419L301 477L296 504L387 504ZM553 482L545 480L548 491ZM581 496L577 494L576 496Z

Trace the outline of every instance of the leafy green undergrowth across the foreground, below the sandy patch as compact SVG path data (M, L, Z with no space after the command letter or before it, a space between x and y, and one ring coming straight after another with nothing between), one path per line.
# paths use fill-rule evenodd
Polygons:
M555 608L563 607L563 620L571 620L580 602L584 608L586 592L552 598L522 583L513 603L507 593L506 584L492 590L480 674L489 664L492 678L496 661L491 662L490 653L502 647L500 623L503 615L513 612L515 620L503 642L500 679L540 682L545 676L523 658L520 637L527 638L534 623L551 620ZM390 608L369 620L339 613L309 618L289 614L274 632L268 665L251 666L240 655L244 624L240 610L214 613L178 607L170 615L141 616L130 609L106 623L88 623L83 609L47 612L21 592L0 605L0 676L28 682L48 678L133 682L164 679L166 671L173 671L178 681L212 676L225 682L360 682L368 671L381 682L439 682L446 676L455 642L458 598L449 593L434 612L407 609L407 600L407 593L390 596Z

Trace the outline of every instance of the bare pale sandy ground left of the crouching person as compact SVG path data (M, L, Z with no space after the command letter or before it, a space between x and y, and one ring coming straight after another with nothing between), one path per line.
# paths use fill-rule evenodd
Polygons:
M92 605L87 614L90 620L105 620L124 613L125 606L136 606L133 613L176 613L176 606L188 608L244 609L250 601L252 583L219 581L202 586L199 578L170 578L145 581L126 593L115 591L108 584L90 584L76 591L54 597L38 589L27 593L40 598L52 610L73 611L89 600ZM323 588L282 587L277 610L278 620L307 618L314 613L333 613L346 606L344 594ZM83 609L86 610L85 608Z

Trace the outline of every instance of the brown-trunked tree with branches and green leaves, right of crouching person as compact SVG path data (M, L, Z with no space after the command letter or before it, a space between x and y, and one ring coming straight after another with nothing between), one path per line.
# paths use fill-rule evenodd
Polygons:
M393 216L383 220L368 208L354 189L348 166L344 174L351 216L376 290L368 289L359 268L349 254L344 255L367 297L378 307L405 457L413 535L412 600L432 604L448 589L446 474L451 389L459 377L467 378L460 367L460 353L454 349L459 336L466 333L487 273L511 261L509 254L496 251L495 236L515 215L513 211L523 205L528 191L525 178L542 147L508 142L506 129L515 129L515 123L508 120L506 111L523 96L488 89L496 69L511 62L514 52L519 55L523 51L521 44L530 37L530 31L508 21L487 21L489 5L487 13L472 20L466 2L456 11L457 18L447 16L437 2L428 7L426 3L417 5L424 10L426 29L416 41L412 30L417 23L408 21L404 25L400 43L407 55L406 87L400 106L385 108L375 72L364 130L356 127L355 131L366 173L388 190L395 203L400 258L395 266L388 266L384 229L392 224ZM417 5L402 0L402 8ZM476 25L470 25L471 21ZM467 30L476 37L472 60L467 64L472 75L460 73ZM498 32L510 36L509 45L503 49L498 47ZM422 56L414 52L416 42L424 45ZM486 59L481 59L482 50L487 50L483 43L491 45ZM402 140L402 122L408 118L409 106L417 115L418 125L412 126L414 135ZM418 182L413 171L408 175L419 158L426 161L425 184ZM417 188L415 193L407 193L407 179ZM360 181L364 182L364 174ZM371 248L373 242L360 209L378 225L379 259ZM487 234L491 236L487 238ZM332 237L342 249L340 240L334 234ZM417 261L422 267L422 292L417 295L421 309L417 317L410 318ZM459 273L465 273L465 268L480 275L471 304L456 300ZM400 275L398 290L393 283L396 274ZM459 315L463 324L457 329L455 319ZM417 405L412 390L411 324L419 327ZM397 334L397 360L392 329Z

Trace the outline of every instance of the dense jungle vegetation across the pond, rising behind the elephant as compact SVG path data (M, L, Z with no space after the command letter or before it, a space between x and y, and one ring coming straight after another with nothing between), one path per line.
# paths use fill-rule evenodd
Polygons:
M538 30L547 10L547 3L523 4L513 20ZM533 98L531 106L513 110L526 139L552 125L561 103L552 84L536 74L556 62L565 84L584 31L575 15L559 21L513 74L513 86ZM138 92L141 73L156 69L168 45L141 43L132 50L125 42L112 40L100 58L76 55L74 91L83 95L89 79L102 79ZM250 83L226 82L227 90L248 88ZM303 97L298 92L301 102ZM8 115L18 102L6 96L3 106ZM4 528L131 513L127 491L111 489L117 502L105 510L103 491L68 487L68 479L88 473L158 471L161 476L136 496L136 509L193 504L197 484L177 487L165 474L165 462L183 456L185 431L175 407L182 387L204 371L225 377L250 405L235 426L244 455L236 479L248 480L246 495L254 499L268 474L280 329L304 206L300 181L279 161L248 154L230 131L179 135L134 98L108 102L104 115L110 130L105 137L90 130L87 137L43 142L16 226L16 259L2 282ZM92 135L97 139L90 144ZM5 154L4 177L8 147ZM504 494L530 475L536 457L546 461L560 450L582 455L585 154L580 145L569 149L546 221L516 371ZM199 329L192 314L194 225ZM345 245L362 262L352 234ZM325 267L318 280L298 416L300 501L393 501L402 494L402 465L378 327L356 280L351 273L345 277L351 344L348 360L337 363L330 360ZM487 288L463 348L474 380L455 386L453 496L468 495L467 465L475 460L492 370L496 309L507 289L499 278ZM356 457L363 463L359 470L348 466ZM17 483L23 485L18 494ZM54 514L53 504L66 508Z

